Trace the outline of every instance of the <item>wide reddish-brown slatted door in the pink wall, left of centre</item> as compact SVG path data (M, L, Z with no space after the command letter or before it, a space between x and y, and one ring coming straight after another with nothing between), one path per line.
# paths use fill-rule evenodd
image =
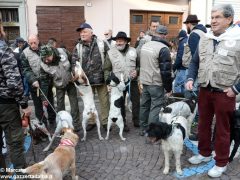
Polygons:
M37 27L39 39L47 43L55 38L58 46L64 44L72 51L79 33L77 27L84 22L83 6L37 6Z

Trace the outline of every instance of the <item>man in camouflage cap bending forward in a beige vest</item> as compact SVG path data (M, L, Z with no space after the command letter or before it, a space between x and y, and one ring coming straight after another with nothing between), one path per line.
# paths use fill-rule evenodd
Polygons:
M40 48L41 68L40 80L41 89L45 96L48 95L49 81L53 82L56 88L57 111L65 110L65 94L67 92L71 106L71 115L73 117L74 131L80 130L79 106L77 100L77 90L72 82L72 69L74 66L70 63L70 57L63 48L54 48L49 45ZM42 96L44 103L47 103Z

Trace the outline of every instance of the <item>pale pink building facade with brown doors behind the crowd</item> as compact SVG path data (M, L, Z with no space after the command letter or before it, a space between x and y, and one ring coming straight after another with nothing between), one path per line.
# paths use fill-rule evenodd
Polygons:
M233 4L235 20L239 18L239 0L1 0L0 17L6 9L10 14L18 13L14 22L4 22L7 32L18 29L25 39L39 34L43 43L54 37L72 50L79 38L75 30L84 21L100 38L106 29L112 29L114 36L125 31L134 44L139 31L146 31L151 20L166 25L171 39L185 28L182 22L189 13L197 14L202 24L210 23L211 8L219 3Z

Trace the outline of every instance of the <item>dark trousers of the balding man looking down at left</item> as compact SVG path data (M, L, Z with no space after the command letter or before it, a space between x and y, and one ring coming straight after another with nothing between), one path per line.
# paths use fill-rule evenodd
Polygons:
M33 100L33 104L34 104L34 108L35 108L35 116L41 121L46 122L46 117L44 116L44 112L43 112L43 104L42 104L42 99L41 99L41 92L39 92L39 96L37 96L37 89L36 88L32 88L30 87L30 93L32 96L32 100ZM51 103L51 105L53 105L54 107L54 100L53 100L53 92L52 92L52 86L49 86L48 88L48 95L47 98L49 100L49 102ZM54 112L54 110L52 109L52 107L50 105L48 105L47 107L47 112L48 112L48 120L50 123L55 122L55 118L56 118L56 113Z

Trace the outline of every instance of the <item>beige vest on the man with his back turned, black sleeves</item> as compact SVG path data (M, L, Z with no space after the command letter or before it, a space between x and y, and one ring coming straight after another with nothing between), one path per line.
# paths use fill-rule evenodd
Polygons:
M162 85L162 77L159 67L159 52L162 48L168 48L165 44L150 41L143 45L140 56L140 82L145 85Z

